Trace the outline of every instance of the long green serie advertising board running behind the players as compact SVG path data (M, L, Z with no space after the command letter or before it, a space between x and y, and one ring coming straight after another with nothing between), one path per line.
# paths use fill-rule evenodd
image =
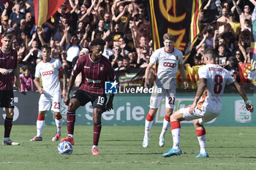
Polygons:
M38 115L39 93L14 93L15 96L15 125L36 125ZM176 94L175 110L192 104L195 94ZM256 103L253 95L248 96L252 103ZM113 101L113 110L103 113L102 125L140 125L145 123L148 114L150 94L132 96L130 94L117 94ZM228 106L228 107L227 107ZM75 125L93 125L91 103L85 107L79 107L76 111ZM5 112L0 109L0 124L3 125ZM61 115L64 125L67 125L67 106L61 103ZM154 125L162 125L165 117L165 102L161 106L154 119ZM192 121L183 122L183 125L193 125ZM45 115L45 125L55 125L53 112L48 111ZM225 94L222 97L222 112L217 119L206 125L213 126L255 126L256 117L246 111L244 100L238 94Z

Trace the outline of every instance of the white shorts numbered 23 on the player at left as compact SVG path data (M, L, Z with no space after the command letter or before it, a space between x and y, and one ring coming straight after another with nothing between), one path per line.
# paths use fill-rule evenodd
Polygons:
M47 111L51 110L53 112L60 112L61 109L61 94L56 93L54 96L41 94L39 101L38 101L38 111Z

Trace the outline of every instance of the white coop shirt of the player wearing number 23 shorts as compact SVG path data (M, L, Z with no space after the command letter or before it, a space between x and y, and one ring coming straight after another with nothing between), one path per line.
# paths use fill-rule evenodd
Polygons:
M59 83L59 72L63 71L61 61L51 58L49 62L40 61L36 67L34 77L42 76L42 88L46 94L50 96L61 92L61 85Z

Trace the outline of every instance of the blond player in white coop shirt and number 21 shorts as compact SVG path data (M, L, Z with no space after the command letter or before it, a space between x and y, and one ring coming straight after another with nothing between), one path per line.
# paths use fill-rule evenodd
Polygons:
M148 88L148 77L152 67L157 63L157 80L154 88L162 88L162 93L152 93L150 98L150 109L145 120L145 134L143 138L143 147L148 147L149 132L153 124L154 117L157 113L162 99L165 98L165 119L162 125L162 132L159 136L159 146L165 145L165 133L167 131L170 115L173 114L176 95L176 74L179 69L181 77L184 80L184 88L188 88L184 66L183 55L180 50L174 48L175 37L172 34L165 34L163 36L165 47L156 50L150 58L148 67L145 72L145 88Z

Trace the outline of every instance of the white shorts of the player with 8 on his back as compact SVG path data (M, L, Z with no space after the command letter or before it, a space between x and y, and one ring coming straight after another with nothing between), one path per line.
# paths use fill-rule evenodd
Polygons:
M206 107L202 107L201 110L195 108L194 113L192 115L189 113L189 108L190 107L184 107L179 110L181 113L183 113L184 120L189 121L189 120L199 119L199 123L201 125L218 117L220 113L220 112L208 112Z

